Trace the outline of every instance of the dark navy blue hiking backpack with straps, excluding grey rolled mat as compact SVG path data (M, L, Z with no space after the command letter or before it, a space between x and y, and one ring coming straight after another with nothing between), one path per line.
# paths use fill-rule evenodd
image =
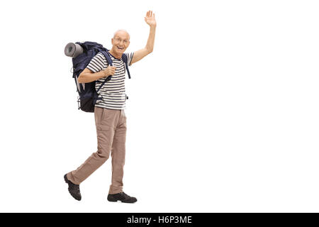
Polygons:
M77 44L81 45L84 52L80 54L77 57L72 58L73 63L73 78L75 79L75 83L77 84L77 92L79 93L77 102L78 102L78 109L81 109L85 112L94 112L94 106L96 104L96 101L99 99L102 99L99 97L98 92L103 87L103 85L111 79L112 76L108 76L101 84L99 89L96 90L95 88L95 81L89 82L85 84L79 84L77 81L77 78L79 77L79 74L86 68L87 65L89 65L89 62L91 59L97 55L99 52L101 52L108 61L108 65L113 66L113 61L111 60L110 55L108 54L108 50L106 48L103 48L103 45L99 43L94 42L84 42ZM122 60L125 63L126 70L128 71L128 78L130 79L130 72L128 70L128 58L125 54L122 55ZM128 96L126 96L126 99L128 99Z

